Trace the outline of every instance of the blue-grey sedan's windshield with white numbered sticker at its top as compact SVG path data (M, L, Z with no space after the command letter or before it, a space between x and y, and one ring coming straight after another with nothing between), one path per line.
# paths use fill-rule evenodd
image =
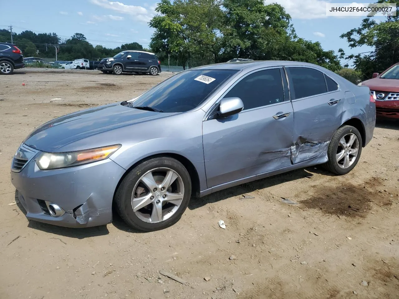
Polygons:
M129 103L162 112L186 112L198 107L237 70L192 70L178 73Z

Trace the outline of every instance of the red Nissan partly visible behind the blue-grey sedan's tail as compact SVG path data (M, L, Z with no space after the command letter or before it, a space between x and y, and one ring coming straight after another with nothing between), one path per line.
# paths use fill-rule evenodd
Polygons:
M375 98L377 116L399 118L399 63L359 83L369 87Z

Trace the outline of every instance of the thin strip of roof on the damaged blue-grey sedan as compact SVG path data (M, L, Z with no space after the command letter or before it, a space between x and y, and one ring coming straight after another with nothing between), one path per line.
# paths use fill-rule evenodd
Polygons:
M215 63L211 65L202 65L200 67L194 67L192 69L197 70L211 70L211 69L235 69L235 70L243 70L249 67L275 67L275 66L284 66L284 65L302 65L308 67L318 67L318 65L314 65L313 63L300 62L300 61L282 61L282 60L263 60L263 61L233 61L233 62L224 62L224 63Z

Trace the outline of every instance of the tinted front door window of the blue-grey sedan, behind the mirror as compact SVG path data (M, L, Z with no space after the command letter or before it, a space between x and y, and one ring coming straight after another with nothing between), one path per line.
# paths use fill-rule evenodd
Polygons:
M243 101L244 110L284 102L280 69L267 69L248 75L224 97L235 96Z

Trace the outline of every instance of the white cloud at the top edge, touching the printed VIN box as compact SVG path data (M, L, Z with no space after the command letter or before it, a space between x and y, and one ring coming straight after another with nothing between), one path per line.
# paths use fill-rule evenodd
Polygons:
M278 3L285 8L293 19L327 18L325 0L264 0L265 4Z

